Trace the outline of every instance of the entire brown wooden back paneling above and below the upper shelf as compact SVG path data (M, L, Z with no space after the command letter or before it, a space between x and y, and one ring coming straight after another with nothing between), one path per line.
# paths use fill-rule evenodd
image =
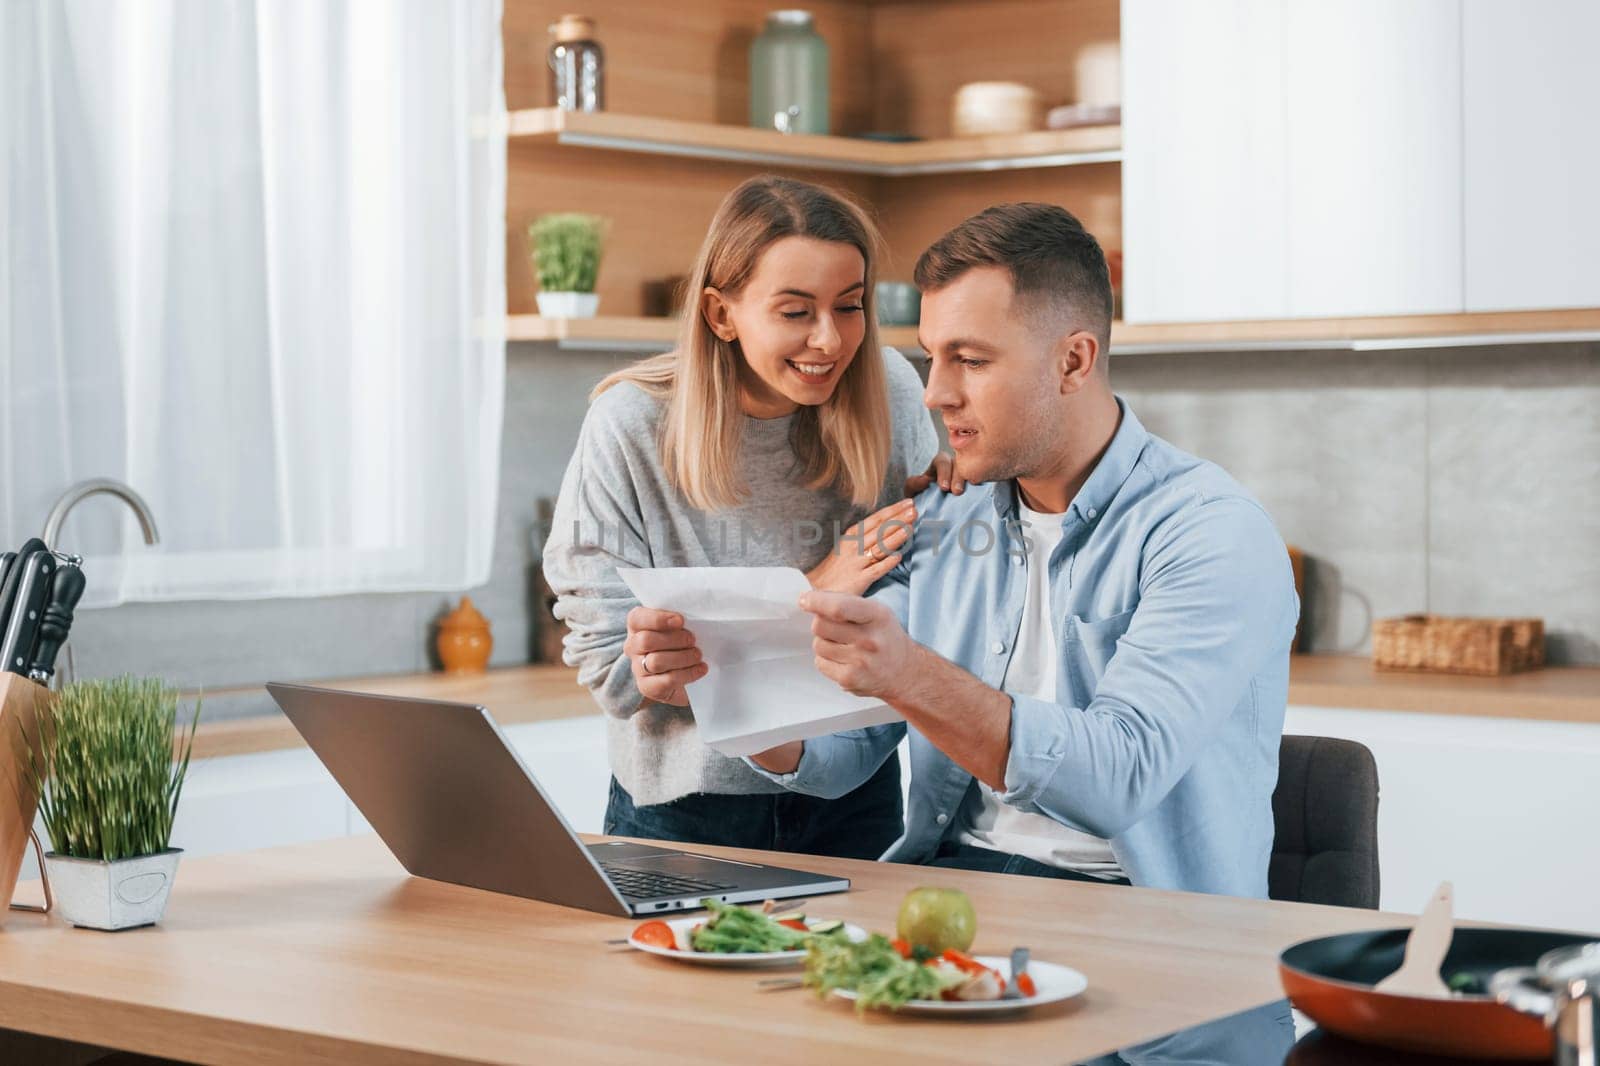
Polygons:
M606 50L608 110L744 125L749 43L770 0L506 0L506 102L547 106L546 27L581 10ZM878 0L806 3L832 53L835 133L909 130L949 134L949 101L973 80L1019 80L1048 102L1074 93L1072 56L1117 40L1118 0ZM595 211L613 221L600 271L600 314L645 311L646 282L688 271L720 198L763 168L514 141L507 190L507 303L534 311L528 222L546 211ZM1117 165L926 178L806 174L851 192L878 218L890 246L885 277L909 279L939 234L992 203L1048 200L1083 218L1106 248L1122 246Z

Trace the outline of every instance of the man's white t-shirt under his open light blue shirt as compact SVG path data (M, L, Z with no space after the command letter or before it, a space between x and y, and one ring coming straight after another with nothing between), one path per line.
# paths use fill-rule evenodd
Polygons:
M1056 626L1050 615L1050 555L1061 543L1064 515L1030 511L1018 499L1027 527L1027 599L1022 603L1022 626L1006 664L1002 688L1022 696L1054 703L1059 648ZM1077 871L1091 877L1123 877L1110 844L1104 839L1062 826L1054 818L1032 815L1000 800L984 783L966 794L957 815L955 840L990 852L1022 855L1046 866Z

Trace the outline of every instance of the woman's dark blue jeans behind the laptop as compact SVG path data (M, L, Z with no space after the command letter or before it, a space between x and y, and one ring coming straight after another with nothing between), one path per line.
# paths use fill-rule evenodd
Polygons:
M904 829L899 759L894 755L866 784L837 800L798 792L691 792L666 804L637 807L627 789L611 778L611 799L605 808L606 836L837 858L875 860Z

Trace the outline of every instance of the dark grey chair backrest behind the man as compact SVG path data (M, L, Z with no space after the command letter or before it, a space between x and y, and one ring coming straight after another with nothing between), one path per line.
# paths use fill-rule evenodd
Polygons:
M1378 762L1365 744L1285 736L1267 895L1378 908Z

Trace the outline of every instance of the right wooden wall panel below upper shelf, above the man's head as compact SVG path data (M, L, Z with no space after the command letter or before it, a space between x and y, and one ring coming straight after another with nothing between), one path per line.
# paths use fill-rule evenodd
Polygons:
M1117 163L893 178L878 203L890 243L885 277L910 280L917 256L944 230L987 206L1018 200L1059 203L1082 219L1102 248L1122 248L1122 168Z

